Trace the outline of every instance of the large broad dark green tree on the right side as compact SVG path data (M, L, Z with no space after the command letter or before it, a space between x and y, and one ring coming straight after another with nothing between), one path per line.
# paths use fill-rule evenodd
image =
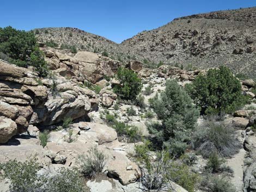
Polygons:
M200 74L186 90L202 114L231 113L246 103L239 80L225 66Z

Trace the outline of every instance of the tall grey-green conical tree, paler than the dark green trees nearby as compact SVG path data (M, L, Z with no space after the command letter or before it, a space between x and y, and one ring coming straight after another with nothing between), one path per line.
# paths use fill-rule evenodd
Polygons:
M184 148L181 145L190 137L199 116L192 100L175 80L166 82L166 89L150 101L155 113L162 121L161 126L151 127L160 143ZM182 135L182 137L180 137ZM178 147L179 145L179 147ZM179 151L178 150L178 151ZM176 152L178 152L176 151Z

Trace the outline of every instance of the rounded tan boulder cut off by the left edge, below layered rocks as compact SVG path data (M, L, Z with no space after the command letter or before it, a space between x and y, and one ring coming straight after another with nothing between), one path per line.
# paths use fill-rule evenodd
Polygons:
M16 133L16 123L7 117L0 116L0 144L7 143Z

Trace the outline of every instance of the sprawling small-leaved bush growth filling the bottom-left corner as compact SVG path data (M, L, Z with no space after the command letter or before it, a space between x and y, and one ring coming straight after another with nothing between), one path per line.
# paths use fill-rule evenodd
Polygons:
M2 177L10 179L10 191L15 192L85 192L82 179L75 169L61 169L56 175L39 175L36 159L25 162L9 160L0 164Z

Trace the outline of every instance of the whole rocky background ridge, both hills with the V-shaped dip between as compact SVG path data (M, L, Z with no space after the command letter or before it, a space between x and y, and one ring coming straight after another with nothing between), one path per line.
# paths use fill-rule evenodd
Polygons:
M205 69L227 65L235 73L255 76L256 8L216 11L176 18L121 44L76 28L42 28L42 42L76 46L126 61L131 58L170 65L192 64Z

